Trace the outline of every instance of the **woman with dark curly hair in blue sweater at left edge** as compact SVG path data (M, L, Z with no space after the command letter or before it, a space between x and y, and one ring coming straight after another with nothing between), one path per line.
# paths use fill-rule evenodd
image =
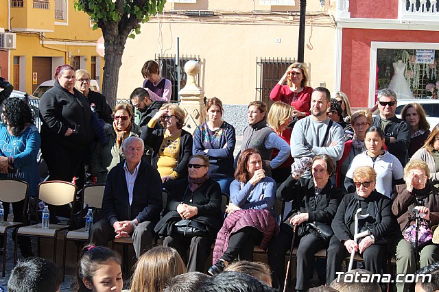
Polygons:
M29 196L36 197L40 176L37 156L41 145L40 134L27 103L9 97L1 105L0 123L0 178L16 178L29 184ZM4 203L4 218L8 218L9 203ZM12 203L14 220L23 221L24 202ZM31 255L29 237L19 237L23 256Z

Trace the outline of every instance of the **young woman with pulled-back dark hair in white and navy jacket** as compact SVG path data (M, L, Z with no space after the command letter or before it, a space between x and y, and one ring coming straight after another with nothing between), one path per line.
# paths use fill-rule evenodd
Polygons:
M348 193L355 192L353 173L358 167L370 166L377 173L377 191L392 197L396 184L404 184L404 170L398 158L383 150L384 133L380 127L369 127L364 138L367 151L355 156L346 173L344 186Z

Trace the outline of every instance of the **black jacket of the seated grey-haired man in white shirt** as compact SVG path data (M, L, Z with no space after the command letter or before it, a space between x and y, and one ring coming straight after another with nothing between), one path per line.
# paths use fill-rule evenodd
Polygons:
M128 197L125 171L125 160L113 167L108 173L102 210L111 226L115 221L137 219L158 221L163 209L162 183L158 171L142 158L132 194L132 203Z

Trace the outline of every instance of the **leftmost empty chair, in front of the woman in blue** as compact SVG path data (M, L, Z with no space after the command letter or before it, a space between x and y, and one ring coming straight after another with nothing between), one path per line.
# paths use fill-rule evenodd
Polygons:
M27 204L29 202L28 199L28 190L29 184L23 180L16 180L14 178L7 178L0 180L0 201L5 203L16 203L24 200L23 204L23 221L7 221L7 218L3 221L3 224L0 225L0 234L3 234L3 265L1 270L1 276L5 276L5 268L6 268L6 254L8 252L6 249L8 248L8 230L11 228L18 228L20 226L26 226L27 222ZM15 241L15 245L17 245L17 241ZM14 254L14 263L16 261L16 254Z

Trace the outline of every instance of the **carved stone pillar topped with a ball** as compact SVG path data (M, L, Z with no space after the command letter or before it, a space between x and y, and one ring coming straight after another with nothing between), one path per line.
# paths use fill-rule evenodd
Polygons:
M197 61L188 61L185 64L187 82L180 90L180 107L185 110L185 129L193 134L198 125L206 120L206 108L204 106L204 89L195 83L195 76L200 73L200 64Z

